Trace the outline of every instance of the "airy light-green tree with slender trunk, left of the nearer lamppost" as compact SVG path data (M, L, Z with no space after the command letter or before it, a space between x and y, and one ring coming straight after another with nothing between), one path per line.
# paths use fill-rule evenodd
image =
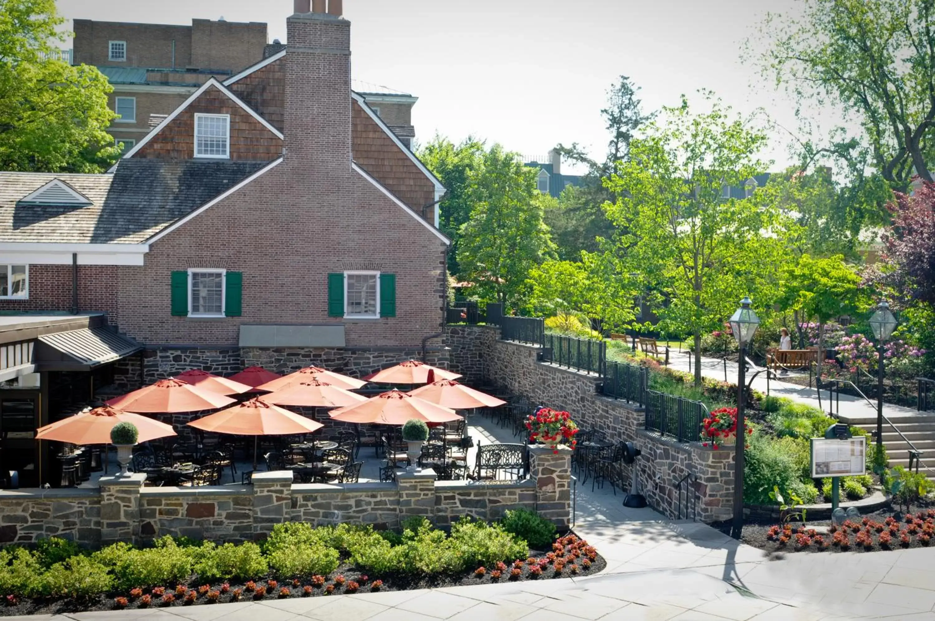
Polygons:
M683 97L633 140L630 159L607 181L620 197L605 207L620 231L619 271L639 273L645 289L668 298L657 310L662 329L694 336L696 383L701 334L722 325L742 296L769 308L785 253L775 209L723 197L725 186L763 169L755 152L766 137L706 99L710 112L692 113Z

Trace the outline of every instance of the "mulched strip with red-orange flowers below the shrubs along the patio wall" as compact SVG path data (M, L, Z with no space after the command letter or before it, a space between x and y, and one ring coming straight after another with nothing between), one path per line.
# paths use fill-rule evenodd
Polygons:
M551 580L587 576L604 570L607 561L597 550L573 533L562 537L552 552L530 551L528 558L512 563L497 563L496 567L477 568L463 574L434 576L384 575L367 576L347 563L329 576L313 576L305 580L258 580L255 582L166 585L152 589L134 589L130 593L114 593L79 601L76 599L10 599L0 607L0 616L19 614L72 614L87 611L136 610L169 608L234 601L264 599L313 598L353 593L403 591L444 586L492 585L524 580Z

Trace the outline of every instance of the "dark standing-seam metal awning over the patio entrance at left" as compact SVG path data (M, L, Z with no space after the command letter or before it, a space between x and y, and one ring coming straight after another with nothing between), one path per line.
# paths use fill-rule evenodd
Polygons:
M36 363L42 370L87 371L136 354L143 346L105 327L38 337Z

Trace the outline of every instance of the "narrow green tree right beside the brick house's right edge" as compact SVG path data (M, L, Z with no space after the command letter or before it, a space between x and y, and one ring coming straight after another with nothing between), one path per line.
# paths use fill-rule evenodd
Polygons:
M446 137L436 136L419 150L419 159L439 178L448 190L439 205L441 231L452 239L448 253L448 272L459 274L457 253L459 232L468 222L472 205L469 196L470 173L482 166L483 142L467 137L455 145Z

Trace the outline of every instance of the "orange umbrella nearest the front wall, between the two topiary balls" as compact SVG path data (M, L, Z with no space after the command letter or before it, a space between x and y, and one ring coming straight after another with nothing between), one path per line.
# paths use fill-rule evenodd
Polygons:
M203 416L189 423L195 429L235 436L253 436L253 468L256 468L256 440L259 436L293 436L318 431L324 425L253 398L243 403Z

